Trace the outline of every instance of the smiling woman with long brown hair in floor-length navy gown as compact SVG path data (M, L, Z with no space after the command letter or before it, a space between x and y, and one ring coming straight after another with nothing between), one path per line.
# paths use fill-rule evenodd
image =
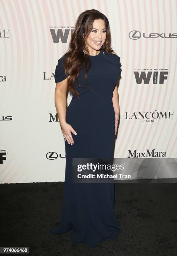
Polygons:
M105 15L86 10L77 18L69 51L55 70L55 105L65 138L66 171L60 225L50 232L70 230L73 242L90 247L120 234L114 212L115 184L72 182L72 158L113 158L121 64L110 38ZM67 89L72 100L66 108Z

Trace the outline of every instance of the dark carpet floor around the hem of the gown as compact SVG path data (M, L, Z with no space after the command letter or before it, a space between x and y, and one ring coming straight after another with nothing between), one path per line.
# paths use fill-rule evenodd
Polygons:
M0 184L0 247L30 255L176 255L177 184L115 184L116 241L96 248L52 235L59 224L64 182Z

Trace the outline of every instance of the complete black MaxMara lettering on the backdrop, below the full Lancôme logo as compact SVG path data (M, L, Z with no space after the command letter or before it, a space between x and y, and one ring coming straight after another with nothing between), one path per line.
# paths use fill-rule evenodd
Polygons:
M146 149L145 152L138 152L137 149L135 149L133 152L131 150L128 151L128 158L140 158L140 157L165 157L166 152L157 152L155 149L152 149L150 152L149 149Z

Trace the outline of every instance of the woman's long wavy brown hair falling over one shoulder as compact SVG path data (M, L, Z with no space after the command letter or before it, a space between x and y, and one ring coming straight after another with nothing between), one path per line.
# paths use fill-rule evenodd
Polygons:
M67 79L67 89L76 94L77 97L80 98L80 93L75 90L74 82L76 81L79 86L81 86L78 82L78 74L80 69L85 67L85 82L87 84L87 73L91 67L91 62L88 57L89 51L86 46L86 39L87 36L90 34L93 28L93 22L96 19L102 19L105 21L106 26L106 40L105 43L101 47L101 51L104 47L105 51L112 52L113 49L111 48L111 34L110 34L110 25L107 17L100 13L98 10L86 10L82 12L76 20L75 23L75 30L72 33L69 49L66 54L65 59L65 73L70 75ZM83 47L85 49L85 56L83 53ZM88 65L89 64L89 65ZM88 69L87 69L88 67ZM87 87L90 86L87 84ZM91 88L90 88L91 89ZM92 90L92 89L91 89Z

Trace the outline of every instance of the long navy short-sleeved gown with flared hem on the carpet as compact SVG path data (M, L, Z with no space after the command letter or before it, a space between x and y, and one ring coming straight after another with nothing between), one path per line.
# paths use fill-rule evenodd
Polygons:
M67 53L66 53L67 54ZM64 71L65 55L55 69L55 82L61 82L67 75ZM66 121L77 132L72 134L73 145L65 141L66 169L62 213L59 227L50 230L60 234L70 230L74 243L82 242L90 247L97 246L106 238L116 240L120 234L117 216L114 212L114 183L72 182L72 158L113 158L115 141L115 112L112 103L113 90L120 75L120 57L100 51L90 56L91 68L87 73L87 87L84 80L85 69L78 77L79 99L72 96L67 107Z

